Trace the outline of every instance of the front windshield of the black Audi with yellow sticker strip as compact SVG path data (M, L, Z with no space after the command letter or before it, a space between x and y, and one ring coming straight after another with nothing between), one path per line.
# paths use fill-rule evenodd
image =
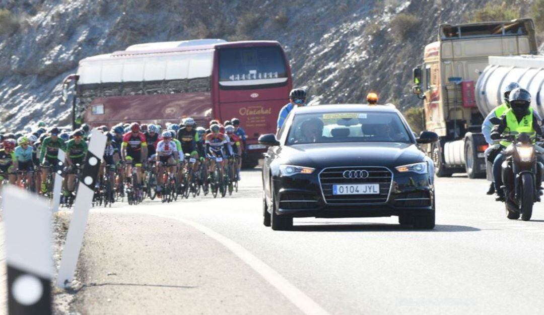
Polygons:
M296 115L286 144L335 142L412 141L397 113L343 112Z

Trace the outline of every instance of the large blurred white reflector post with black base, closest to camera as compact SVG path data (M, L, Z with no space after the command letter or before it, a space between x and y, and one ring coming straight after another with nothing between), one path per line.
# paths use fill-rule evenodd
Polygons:
M53 254L49 202L26 190L2 188L8 314L52 314Z

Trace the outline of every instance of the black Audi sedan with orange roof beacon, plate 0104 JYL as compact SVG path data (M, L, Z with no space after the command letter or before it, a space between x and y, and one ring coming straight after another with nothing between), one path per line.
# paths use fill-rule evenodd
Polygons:
M289 230L293 218L390 217L435 226L434 165L392 106L298 107L280 131L264 134L263 223Z

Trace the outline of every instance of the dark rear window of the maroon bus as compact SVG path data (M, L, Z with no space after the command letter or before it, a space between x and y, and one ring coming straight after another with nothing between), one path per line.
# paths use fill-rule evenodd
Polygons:
M223 48L219 50L219 86L244 89L287 84L280 47Z

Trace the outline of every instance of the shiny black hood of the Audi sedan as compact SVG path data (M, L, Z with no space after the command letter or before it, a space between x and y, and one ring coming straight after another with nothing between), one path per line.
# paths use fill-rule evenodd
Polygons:
M423 162L425 155L409 143L326 143L283 146L281 164L326 168L331 166L386 166Z

